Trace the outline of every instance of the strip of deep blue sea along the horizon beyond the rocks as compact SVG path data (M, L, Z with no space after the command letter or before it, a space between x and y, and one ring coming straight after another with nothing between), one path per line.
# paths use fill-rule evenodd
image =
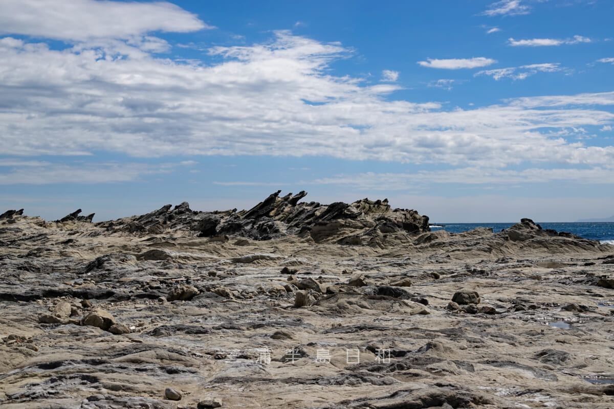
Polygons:
M431 222L432 223L432 222ZM542 229L554 229L556 231L570 232L585 239L600 240L600 242L607 242L614 244L614 223L535 223L542 226ZM498 232L502 229L507 229L513 226L515 223L441 223L437 227L430 226L431 231L445 230L451 233L460 233L475 229L475 227L492 227L492 231Z

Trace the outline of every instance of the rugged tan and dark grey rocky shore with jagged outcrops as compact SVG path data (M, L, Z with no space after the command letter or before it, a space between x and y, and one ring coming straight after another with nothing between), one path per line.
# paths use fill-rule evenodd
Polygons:
M276 192L0 215L0 406L614 407L614 246Z

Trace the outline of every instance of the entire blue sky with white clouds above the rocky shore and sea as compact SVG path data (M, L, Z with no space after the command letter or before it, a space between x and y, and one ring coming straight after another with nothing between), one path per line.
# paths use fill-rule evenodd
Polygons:
M0 213L614 215L611 0L0 0Z

